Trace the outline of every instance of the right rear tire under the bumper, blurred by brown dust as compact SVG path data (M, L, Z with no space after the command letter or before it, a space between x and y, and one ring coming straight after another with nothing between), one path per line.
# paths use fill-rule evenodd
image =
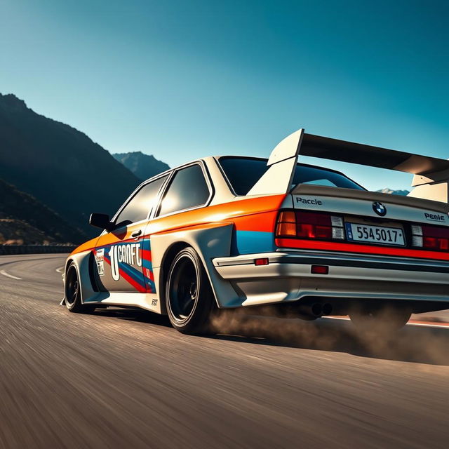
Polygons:
M389 335L406 326L411 315L408 307L389 305L360 307L351 311L349 318L361 332Z

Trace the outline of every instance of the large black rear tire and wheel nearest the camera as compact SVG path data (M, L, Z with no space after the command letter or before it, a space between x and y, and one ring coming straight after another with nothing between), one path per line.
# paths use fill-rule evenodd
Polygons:
M215 299L203 263L191 247L180 250L170 265L166 307L171 325L180 333L211 333L210 319Z

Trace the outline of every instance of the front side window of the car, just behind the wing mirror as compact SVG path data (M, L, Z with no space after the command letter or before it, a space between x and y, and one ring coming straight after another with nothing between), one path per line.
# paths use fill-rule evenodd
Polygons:
M142 186L116 217L116 225L125 226L145 220L149 211L155 206L159 189L167 177L168 175L159 177L159 179Z

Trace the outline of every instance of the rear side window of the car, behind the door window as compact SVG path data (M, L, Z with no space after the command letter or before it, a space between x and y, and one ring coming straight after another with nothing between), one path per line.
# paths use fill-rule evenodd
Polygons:
M170 182L158 215L202 206L208 201L209 194L203 170L198 164L182 168Z

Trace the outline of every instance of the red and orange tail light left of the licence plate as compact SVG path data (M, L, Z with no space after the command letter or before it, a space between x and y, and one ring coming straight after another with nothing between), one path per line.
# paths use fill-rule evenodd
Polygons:
M276 237L344 240L343 218L326 213L283 210L279 213Z

